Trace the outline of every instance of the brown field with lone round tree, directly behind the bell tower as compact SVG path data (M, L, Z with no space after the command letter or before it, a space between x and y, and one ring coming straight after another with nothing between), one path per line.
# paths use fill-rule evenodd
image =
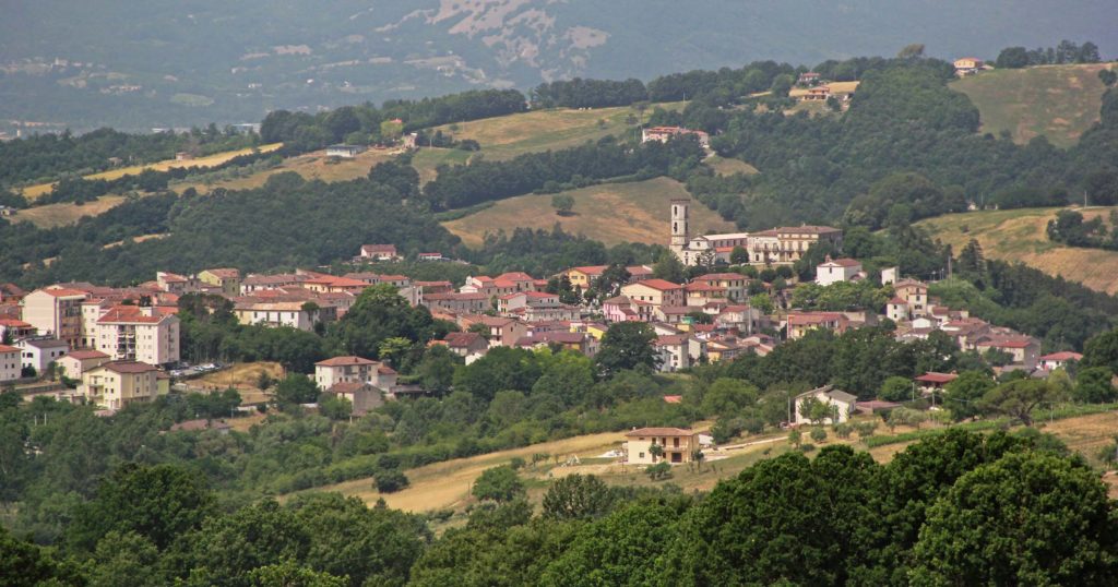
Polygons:
M471 247L481 246L486 233L514 228L551 229L558 223L570 234L581 234L607 245L618 243L667 243L672 198L686 198L682 183L656 178L632 183L605 183L566 191L575 198L571 216L559 216L551 195L518 196L465 218L443 223ZM728 233L737 228L698 201L691 205L691 233Z

